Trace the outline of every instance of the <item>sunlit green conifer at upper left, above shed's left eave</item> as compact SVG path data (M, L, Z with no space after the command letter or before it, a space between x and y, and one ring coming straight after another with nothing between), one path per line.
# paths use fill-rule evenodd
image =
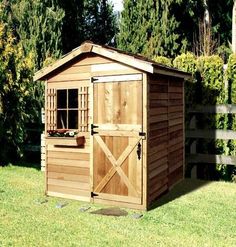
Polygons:
M35 54L35 70L40 69L47 58L61 55L64 11L54 0L15 0L10 8L25 54Z

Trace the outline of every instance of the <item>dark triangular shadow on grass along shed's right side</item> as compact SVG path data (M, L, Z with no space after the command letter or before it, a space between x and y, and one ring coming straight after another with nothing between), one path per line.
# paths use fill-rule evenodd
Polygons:
M149 208L149 211L155 208L161 207L197 189L200 189L201 187L204 187L208 185L209 183L211 183L211 181L203 181L203 180L197 180L197 179L184 179L183 181L175 185L173 189L170 190L168 193L162 195L159 199L157 199L156 202L154 202L152 206Z

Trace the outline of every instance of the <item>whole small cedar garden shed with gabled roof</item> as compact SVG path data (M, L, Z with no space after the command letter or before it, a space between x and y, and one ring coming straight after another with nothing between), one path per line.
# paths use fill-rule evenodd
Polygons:
M38 71L46 194L148 209L183 179L186 77L90 42Z

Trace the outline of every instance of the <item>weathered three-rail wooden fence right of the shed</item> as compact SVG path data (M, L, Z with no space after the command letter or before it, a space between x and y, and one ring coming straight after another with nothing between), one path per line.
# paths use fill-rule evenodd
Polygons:
M196 114L236 114L236 105L214 105L214 106L196 106L195 108L187 109L186 114L190 114L191 120L189 129L185 130L186 138L193 138L194 141L190 144L190 153L186 154L186 163L209 163L209 164L224 164L236 165L236 156L217 155L217 154L201 154L197 153L198 139L220 139L220 140L235 140L236 131L233 130L204 130L196 127ZM196 177L196 166L192 169L192 177Z

